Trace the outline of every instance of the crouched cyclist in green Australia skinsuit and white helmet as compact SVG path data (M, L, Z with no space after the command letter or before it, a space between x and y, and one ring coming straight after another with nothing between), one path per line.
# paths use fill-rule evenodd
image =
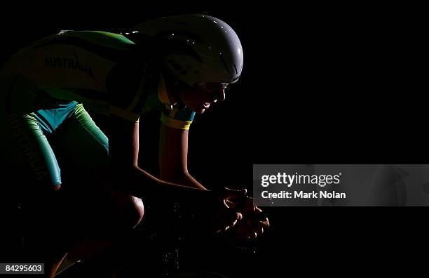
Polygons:
M194 115L223 101L242 69L236 32L208 15L158 18L125 34L62 31L36 41L1 71L1 145L11 160L5 174L18 168L37 181L30 190L50 192L43 211L50 229L72 226L84 237L88 230L135 227L144 214L142 197L192 199L197 210L212 208L206 210L212 230L241 223L240 235L256 238L268 219L258 220L261 210L247 201L247 221L240 221L233 198L246 191L212 192L187 169ZM107 135L86 109L109 117ZM159 178L137 164L139 117L152 110L162 110ZM58 225L59 213L67 224ZM55 251L53 273L67 250Z

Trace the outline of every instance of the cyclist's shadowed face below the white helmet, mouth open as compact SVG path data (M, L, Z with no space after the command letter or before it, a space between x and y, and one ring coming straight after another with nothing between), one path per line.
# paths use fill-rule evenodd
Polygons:
M197 114L202 114L210 105L225 100L228 84L200 84L179 92L180 101Z

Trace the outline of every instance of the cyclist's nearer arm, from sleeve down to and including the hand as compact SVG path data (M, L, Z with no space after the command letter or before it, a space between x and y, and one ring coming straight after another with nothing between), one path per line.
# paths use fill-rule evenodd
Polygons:
M117 117L112 122L114 122L114 131L110 133L109 154L113 166L112 170L116 172L114 176L117 177L114 180L118 187L123 187L123 191L136 197L150 198L151 201L157 201L161 204L171 204L172 201L179 202L181 206L183 205L184 211L193 209L200 217L202 216L200 223L203 223L203 229L211 231L224 231L226 227L232 227L243 218L241 213L229 209L224 199L242 196L243 192L226 192L224 197L220 197L219 194L210 190L160 180L139 168L137 164L139 124L126 122ZM175 135L179 134L175 133ZM187 140L185 141L187 143Z

